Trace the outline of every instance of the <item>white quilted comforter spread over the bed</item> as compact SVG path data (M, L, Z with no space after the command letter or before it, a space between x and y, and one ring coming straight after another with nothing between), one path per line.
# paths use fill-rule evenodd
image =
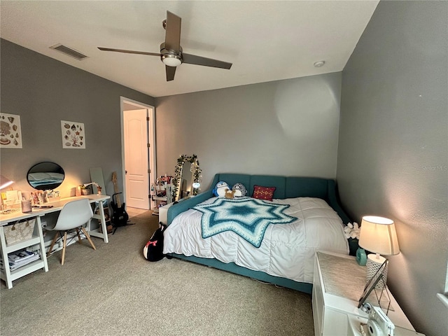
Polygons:
M206 202L213 202L214 198ZM349 253L342 220L324 200L300 197L272 202L290 204L285 214L297 217L297 221L270 224L259 248L231 231L203 239L202 213L190 209L176 216L165 230L163 253L216 258L307 283L313 282L314 253L317 249Z

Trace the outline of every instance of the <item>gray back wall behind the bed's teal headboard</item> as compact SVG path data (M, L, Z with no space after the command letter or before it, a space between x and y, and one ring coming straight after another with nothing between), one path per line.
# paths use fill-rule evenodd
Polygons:
M214 174L335 178L341 73L156 99L158 174L196 154Z

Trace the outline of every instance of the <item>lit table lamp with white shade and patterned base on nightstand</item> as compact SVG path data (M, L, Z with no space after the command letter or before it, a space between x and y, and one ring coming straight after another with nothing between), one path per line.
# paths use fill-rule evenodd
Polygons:
M400 253L395 224L391 219L378 216L364 216L360 226L359 246L372 252L367 255L367 281L372 279L386 258L382 255ZM375 254L373 254L375 253ZM384 289L387 280L387 267L378 281L377 289Z

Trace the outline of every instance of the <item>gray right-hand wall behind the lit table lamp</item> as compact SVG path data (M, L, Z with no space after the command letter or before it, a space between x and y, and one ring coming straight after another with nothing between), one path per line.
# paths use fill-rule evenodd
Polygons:
M417 331L448 334L448 3L381 1L342 72L337 180L358 223L393 219L388 284Z

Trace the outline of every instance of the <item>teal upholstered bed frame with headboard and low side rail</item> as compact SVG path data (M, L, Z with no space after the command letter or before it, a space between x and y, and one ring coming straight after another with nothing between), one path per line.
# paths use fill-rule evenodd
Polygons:
M169 207L167 214L167 224L171 224L173 219L183 211L187 211L188 209L195 207L196 204L204 202L210 197L213 197L214 195L212 188L214 188L214 186L216 186L216 183L218 183L219 181L225 181L230 187L234 186L235 183L243 183L248 193L248 195L246 196L252 196L253 186L265 186L276 188L273 198L321 198L322 200L325 200L325 202L327 202L330 207L332 207L332 209L337 212L344 224L350 222L349 217L345 214L344 210L339 205L335 180L314 177L220 173L215 175L214 180L211 183L211 189L205 191L204 193L200 193L195 197L190 197L187 200L183 200L177 204L173 204L172 207ZM353 254L354 251L356 251L356 249L354 248L355 247L353 246L350 247L350 254ZM354 251L352 251L352 249L354 249ZM277 286L300 290L304 293L311 294L311 290L313 287L311 283L297 282L294 280L281 278L279 276L272 276L266 274L265 272L253 271L252 269L238 266L233 262L225 263L216 259L199 258L194 255L187 256L176 253L170 253L169 255L174 258L188 260L197 264L207 265L209 267L222 269L224 271L232 272L235 274L248 276L259 281L273 283Z

